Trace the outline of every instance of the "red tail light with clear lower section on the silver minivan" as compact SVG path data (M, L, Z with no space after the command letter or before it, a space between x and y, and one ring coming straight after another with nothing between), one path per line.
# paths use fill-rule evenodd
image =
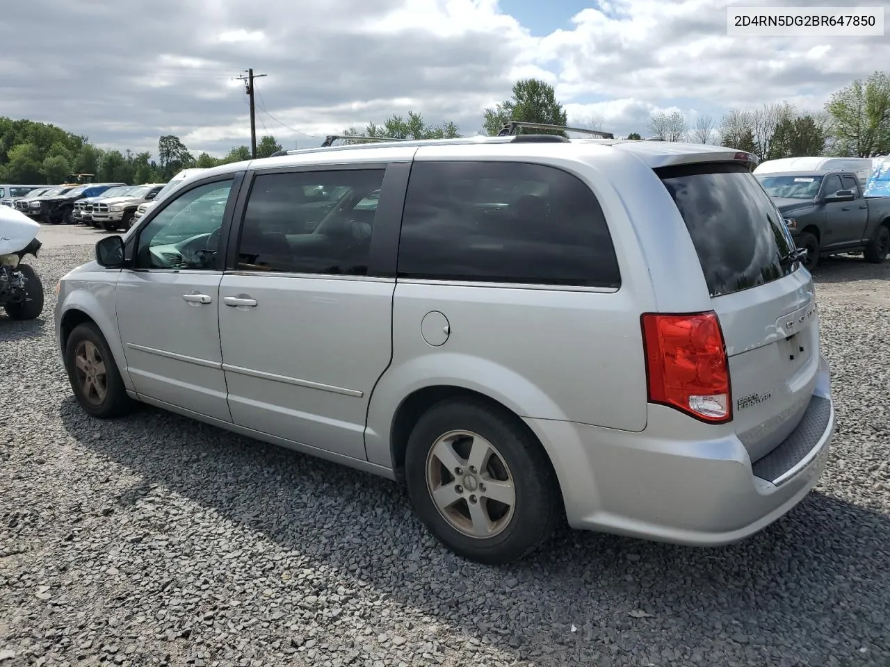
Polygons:
M716 313L644 313L649 402L702 422L732 420L729 363Z

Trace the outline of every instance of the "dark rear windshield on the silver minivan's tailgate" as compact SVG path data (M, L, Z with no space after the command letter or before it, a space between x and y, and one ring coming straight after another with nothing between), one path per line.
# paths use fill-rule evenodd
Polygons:
M744 165L657 170L699 255L711 296L740 292L797 269L781 214Z

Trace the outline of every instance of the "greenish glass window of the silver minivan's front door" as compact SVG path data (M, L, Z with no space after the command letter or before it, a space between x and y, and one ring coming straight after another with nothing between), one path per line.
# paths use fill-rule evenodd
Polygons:
M205 183L183 192L139 234L137 269L216 269L219 229L232 180Z

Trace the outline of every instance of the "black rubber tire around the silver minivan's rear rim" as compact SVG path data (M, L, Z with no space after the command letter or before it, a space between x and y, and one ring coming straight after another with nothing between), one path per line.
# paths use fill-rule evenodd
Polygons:
M431 475L429 470L433 470L431 465L445 470L439 459L432 456L434 446L453 431L467 431L487 440L497 450L497 456L485 459L485 471L467 467L466 470L459 469L457 475L450 472L453 481L438 478L438 484L428 482ZM449 452L455 454L465 446L465 441L458 438L457 444L450 446ZM469 466L471 458L465 450L465 454L458 454L457 462ZM502 466L501 462L505 465ZM498 463L497 469L495 463ZM480 475L464 474L471 471ZM436 473L432 474L434 476ZM453 516L464 509L467 518L461 520L473 523L469 518L470 502L474 505L478 503L473 510L485 512L489 520L492 512L497 516L506 507L499 502L492 504L484 497L484 483L489 481L493 486L495 481L505 476L512 481L514 503L512 512L501 514L500 518L489 524L496 525L499 521L501 527L498 532L491 537L479 537L455 527ZM522 422L513 414L473 399L444 400L420 417L409 436L405 478L414 510L433 536L458 556L488 565L504 565L537 550L550 539L562 515L559 485L538 440L523 428ZM466 488L458 481L463 481ZM452 484L455 485L453 488ZM463 496L446 510L440 510L433 502L431 486L441 487L448 493L454 490L457 494L459 491ZM471 487L479 494L478 497L468 495ZM452 518L445 518L446 512ZM467 530L472 528L467 526Z

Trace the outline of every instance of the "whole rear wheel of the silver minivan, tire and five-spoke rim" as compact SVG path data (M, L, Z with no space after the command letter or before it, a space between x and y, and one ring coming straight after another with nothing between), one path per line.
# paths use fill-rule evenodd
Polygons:
M513 414L469 399L433 406L411 431L409 496L429 531L466 559L502 565L538 549L560 516L559 486Z

